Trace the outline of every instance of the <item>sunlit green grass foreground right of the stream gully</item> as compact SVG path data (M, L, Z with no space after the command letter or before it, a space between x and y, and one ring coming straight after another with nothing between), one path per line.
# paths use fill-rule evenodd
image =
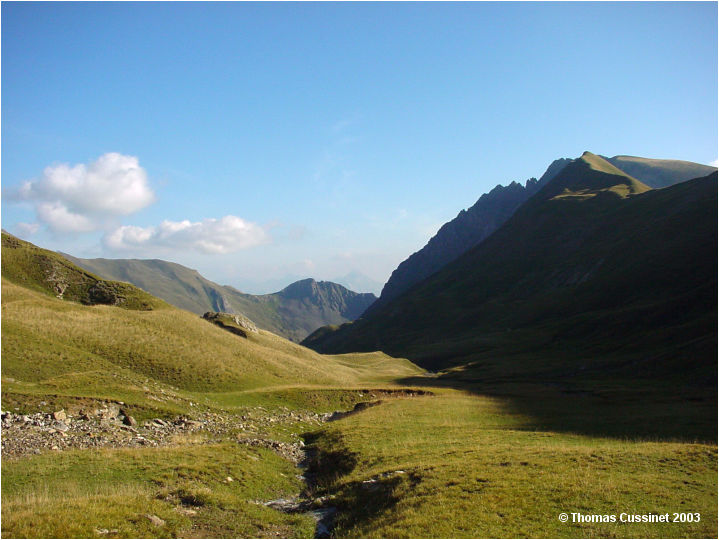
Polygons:
M339 538L717 534L713 444L548 430L506 399L456 391L373 407L331 424L313 444L317 495L338 506ZM322 474L329 463L338 474ZM621 521L622 513L673 519L675 512L693 521ZM616 522L565 523L561 513Z

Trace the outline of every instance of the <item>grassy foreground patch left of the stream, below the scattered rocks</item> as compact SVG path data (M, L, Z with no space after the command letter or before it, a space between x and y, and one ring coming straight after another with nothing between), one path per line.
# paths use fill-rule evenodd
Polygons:
M234 479L228 483L227 477ZM186 441L3 460L4 538L311 538L314 521L253 501L301 482L265 449ZM189 501L184 502L183 501ZM161 526L147 519L151 514Z

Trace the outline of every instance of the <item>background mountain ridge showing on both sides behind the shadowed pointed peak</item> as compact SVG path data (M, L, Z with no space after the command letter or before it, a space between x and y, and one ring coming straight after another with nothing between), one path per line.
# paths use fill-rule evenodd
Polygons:
M603 158L652 188L663 188L691 178L706 176L716 168L689 161L647 159L634 156ZM554 178L572 160L557 159L537 180L530 178L524 185L512 182L498 185L482 195L477 202L445 223L427 244L410 255L392 272L379 300L368 313L431 276L469 249L481 243L501 227L532 195Z

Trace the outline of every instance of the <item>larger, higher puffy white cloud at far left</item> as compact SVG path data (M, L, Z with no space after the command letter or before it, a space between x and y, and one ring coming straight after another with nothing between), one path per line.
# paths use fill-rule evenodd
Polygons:
M96 230L108 218L132 214L155 201L138 159L114 152L88 164L46 167L40 178L23 182L11 197L33 204L38 220L58 232Z

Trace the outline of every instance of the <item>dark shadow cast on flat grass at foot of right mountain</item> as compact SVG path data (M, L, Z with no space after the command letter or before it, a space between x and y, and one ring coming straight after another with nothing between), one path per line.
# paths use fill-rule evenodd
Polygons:
M717 441L716 370L701 384L610 377L487 377L472 368L409 386L447 387L500 399L519 429L630 440Z

